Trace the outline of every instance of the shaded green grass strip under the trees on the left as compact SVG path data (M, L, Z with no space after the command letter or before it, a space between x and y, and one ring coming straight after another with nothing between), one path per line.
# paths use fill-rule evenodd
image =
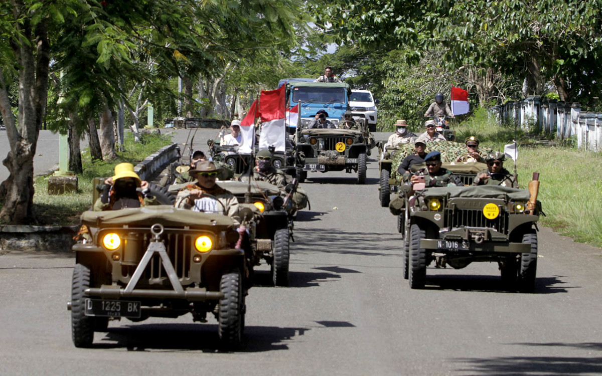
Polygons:
M171 144L171 137L164 135L141 135L140 143L134 142L132 134L126 134L125 151L117 152L112 162L94 161L86 150L82 153L84 172L78 174L78 190L73 193L48 194L48 177L37 177L34 181L34 212L40 225L67 226L77 224L79 215L92 203L92 180L99 176L112 176L114 167L122 162L138 164L147 156Z

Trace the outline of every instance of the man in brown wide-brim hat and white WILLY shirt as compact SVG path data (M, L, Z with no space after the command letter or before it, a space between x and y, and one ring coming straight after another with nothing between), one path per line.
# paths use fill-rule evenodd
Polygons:
M238 200L229 191L217 185L220 169L211 161L199 161L188 171L196 179L178 192L174 206L196 212L224 214L238 222Z

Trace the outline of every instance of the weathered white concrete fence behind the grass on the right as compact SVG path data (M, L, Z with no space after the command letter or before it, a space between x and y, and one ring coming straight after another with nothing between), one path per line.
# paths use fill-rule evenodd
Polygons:
M527 97L494 106L491 111L498 122L518 124L521 129L535 128L555 134L559 140L575 137L579 149L598 152L602 149L602 114L582 112L579 103L541 100Z

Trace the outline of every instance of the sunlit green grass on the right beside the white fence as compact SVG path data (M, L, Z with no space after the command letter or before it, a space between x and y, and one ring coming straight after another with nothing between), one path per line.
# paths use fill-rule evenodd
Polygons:
M497 125L483 109L455 127L456 140L464 141L474 135L480 146L504 150L504 144L517 140L518 182L527 188L533 172L539 175L539 196L546 217L539 223L551 227L575 241L602 247L602 155L568 146L522 146L534 135L514 127ZM504 164L510 172L514 165Z

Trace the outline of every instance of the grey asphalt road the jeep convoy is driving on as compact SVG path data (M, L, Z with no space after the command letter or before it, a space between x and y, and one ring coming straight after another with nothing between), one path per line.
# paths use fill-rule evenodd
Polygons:
M263 286L260 268L235 353L217 351L213 318L190 315L114 321L95 334L95 348L75 348L72 254L0 256L0 374L602 374L599 248L540 227L535 294L504 291L497 265L483 263L429 268L427 288L411 290L377 175L374 159L366 185L351 174L309 174L311 210L296 222L290 286Z

